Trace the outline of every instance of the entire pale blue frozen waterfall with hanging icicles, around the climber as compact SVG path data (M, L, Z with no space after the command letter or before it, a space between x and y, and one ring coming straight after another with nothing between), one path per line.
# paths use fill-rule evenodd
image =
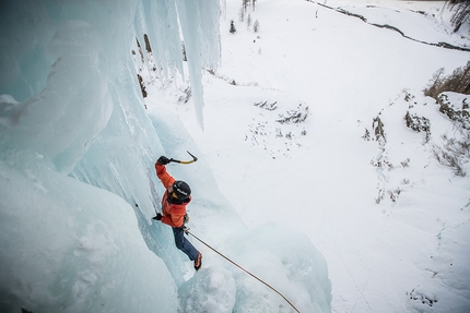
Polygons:
M200 75L202 68L216 69L219 10L215 0L2 3L0 312L177 312L213 302L242 312L266 296L262 288L245 292L245 278L223 261L213 261L212 269L204 263L209 276L185 282L187 258L172 230L151 221L163 192L155 159L200 153L177 117L145 111L131 50L136 37L143 43L149 34L165 76L183 71L185 40L202 127ZM232 238L233 246L244 246L236 239L246 239L247 230L203 157L168 170L198 194L190 212L195 229L214 243ZM249 262L258 257L247 255ZM282 253L269 255L271 268L283 267ZM313 281L324 289L302 291L312 286L296 270L280 281L292 281L286 286L303 294L296 299L303 308L318 302L328 312L326 266L316 252L307 257L320 264ZM204 281L223 289L213 292ZM191 288L201 284L203 294Z

